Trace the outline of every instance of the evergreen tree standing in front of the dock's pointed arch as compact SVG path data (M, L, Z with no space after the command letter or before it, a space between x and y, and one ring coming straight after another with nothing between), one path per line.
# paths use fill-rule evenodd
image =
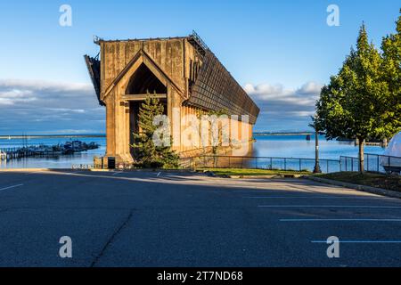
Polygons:
M153 134L159 126L153 125L153 118L163 115L164 107L159 99L149 94L139 109L139 132L134 134L135 161L140 167L178 167L178 155L171 146L157 146ZM171 139L170 139L171 142ZM170 143L171 144L171 143Z

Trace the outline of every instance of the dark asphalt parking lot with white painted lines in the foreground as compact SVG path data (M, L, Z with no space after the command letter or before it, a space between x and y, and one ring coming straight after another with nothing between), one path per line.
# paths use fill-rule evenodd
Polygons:
M0 266L400 265L400 199L303 179L0 172Z

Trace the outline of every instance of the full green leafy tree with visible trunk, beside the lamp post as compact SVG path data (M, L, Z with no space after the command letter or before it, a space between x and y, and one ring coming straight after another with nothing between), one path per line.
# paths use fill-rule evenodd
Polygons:
M389 90L381 76L381 62L381 54L369 44L362 25L356 50L351 49L339 74L323 87L316 103L318 125L329 139L358 140L361 172L364 171L365 140L384 138L389 132L389 126L382 119Z

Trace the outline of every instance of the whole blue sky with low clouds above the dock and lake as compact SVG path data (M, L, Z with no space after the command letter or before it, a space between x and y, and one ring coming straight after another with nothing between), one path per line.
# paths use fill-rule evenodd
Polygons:
M61 27L61 4L72 27ZM326 24L329 4L340 27ZM256 130L303 131L321 85L335 74L364 20L369 37L395 30L399 0L2 1L0 134L102 133L82 55L106 39L185 36L195 29L258 102Z

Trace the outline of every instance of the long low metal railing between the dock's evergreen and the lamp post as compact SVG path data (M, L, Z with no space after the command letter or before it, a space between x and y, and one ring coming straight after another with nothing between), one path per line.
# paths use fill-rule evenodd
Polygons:
M323 173L340 171L340 160L320 159L319 162ZM184 168L250 168L312 172L315 168L315 159L200 156L181 159L180 164Z

